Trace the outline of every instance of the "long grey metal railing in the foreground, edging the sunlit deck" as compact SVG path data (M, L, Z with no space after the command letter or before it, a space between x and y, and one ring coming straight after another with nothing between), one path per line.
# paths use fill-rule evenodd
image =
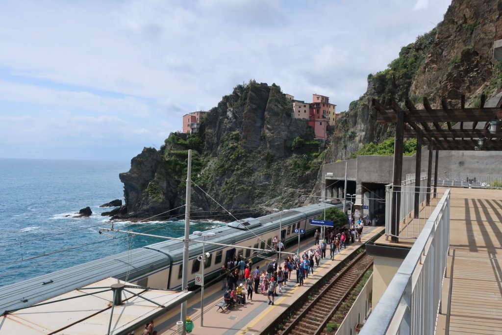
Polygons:
M360 335L435 333L449 241L447 189Z

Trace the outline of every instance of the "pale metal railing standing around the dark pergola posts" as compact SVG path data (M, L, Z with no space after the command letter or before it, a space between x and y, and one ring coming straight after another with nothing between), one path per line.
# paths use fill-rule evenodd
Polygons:
M399 234L399 238L417 238L422 228L425 225L427 218L430 216L433 208L426 206L427 198L427 174L422 174L420 177L420 188L419 188L419 212L415 215L415 175L407 175L407 180L401 183L401 204L399 210L398 222L399 229L396 232ZM441 196L444 192L444 188L437 189L437 194L434 195L434 188L431 187L431 199ZM385 234L389 238L392 236L392 213L393 213L393 185L386 185L386 212L385 212Z

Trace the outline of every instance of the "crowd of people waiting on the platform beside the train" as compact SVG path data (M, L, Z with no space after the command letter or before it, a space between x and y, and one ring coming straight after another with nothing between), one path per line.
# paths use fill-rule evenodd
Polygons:
M326 234L321 240L319 230L314 234L315 244L302 255L290 255L283 260L270 260L265 266L255 266L253 261L241 256L227 259L226 266L221 267L220 276L223 278L221 290L224 290L223 299L228 307L244 305L247 300L253 301L253 293L267 295L269 304L274 305L275 297L282 293L284 286L291 281L291 275L296 275L296 284L303 286L304 278L314 274L314 269L319 267L320 261L333 259L342 248L349 244L361 241L362 220L351 221L348 228L335 230L326 228ZM283 248L281 248L283 249ZM240 284L239 281L242 281ZM247 294L246 294L247 293Z

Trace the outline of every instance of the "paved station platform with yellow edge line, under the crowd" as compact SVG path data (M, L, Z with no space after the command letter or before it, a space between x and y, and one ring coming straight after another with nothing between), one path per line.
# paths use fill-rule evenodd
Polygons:
M296 271L291 274L291 280L288 285L283 288L281 294L275 299L274 306L269 305L267 295L261 293L253 293L253 301L246 299L246 304L243 306L235 306L229 311L222 313L218 311L216 304L223 299L223 290L221 290L221 282L205 288L204 294L204 326L200 326L200 293L188 301L187 315L191 317L195 327L192 334L260 334L271 323L273 323L294 301L305 294L308 289L319 279L325 276L333 266L337 265L361 245L372 239L384 230L384 227L364 227L361 242L350 244L346 249L342 249L339 254L336 254L333 260L329 259L329 246L327 259L323 259L319 263L319 267L314 269L314 274L309 275L304 280L304 286L298 286L296 283ZM314 238L309 238L302 241L300 250L308 250L314 245ZM287 248L287 252L296 252L297 246ZM265 260L253 264L260 269L265 269ZM174 308L166 313L162 318L156 320L155 330L161 335L176 334L176 322L180 320L180 309Z

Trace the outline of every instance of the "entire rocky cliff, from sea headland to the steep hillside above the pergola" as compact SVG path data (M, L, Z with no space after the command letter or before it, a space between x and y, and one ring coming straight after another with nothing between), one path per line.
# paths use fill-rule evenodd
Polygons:
M443 96L454 105L465 94L469 106L479 103L481 92L489 97L500 90L502 66L493 59L492 45L502 32L501 3L454 0L443 22L403 47L387 69L368 75L366 92L341 114L325 151L311 141L307 122L291 117L291 103L279 86L237 85L207 113L199 133L171 134L160 150L145 148L132 159L131 170L120 174L126 205L112 214L182 214L188 149L197 212L192 217L231 219L226 210L247 217L301 204L301 195L318 190L322 163L394 136L392 126L376 124L372 98L404 106L410 97L420 108L423 96L437 106Z

